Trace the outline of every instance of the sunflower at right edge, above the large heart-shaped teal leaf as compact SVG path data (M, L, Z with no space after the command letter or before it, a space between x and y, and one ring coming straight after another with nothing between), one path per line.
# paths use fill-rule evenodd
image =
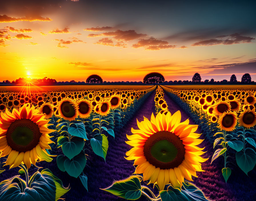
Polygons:
M239 125L251 128L256 125L256 114L254 110L247 109L239 115Z

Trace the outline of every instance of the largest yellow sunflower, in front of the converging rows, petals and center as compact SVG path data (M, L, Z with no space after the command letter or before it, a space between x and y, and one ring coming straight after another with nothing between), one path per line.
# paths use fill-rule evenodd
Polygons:
M126 143L134 146L126 152L127 160L135 160L137 165L134 174L142 174L149 184L157 184L163 190L166 184L181 188L184 178L190 181L196 176L196 171L204 171L201 162L203 148L196 145L203 140L197 139L201 134L194 133L198 125L190 125L189 120L181 121L180 111L173 115L168 111L149 121L144 120L137 125L139 130L131 128L133 135Z

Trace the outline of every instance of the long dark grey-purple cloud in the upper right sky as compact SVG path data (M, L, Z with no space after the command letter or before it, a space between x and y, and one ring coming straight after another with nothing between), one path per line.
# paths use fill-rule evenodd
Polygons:
M193 43L192 46L210 46L210 45L232 45L232 44L239 44L239 43L251 43L252 40L255 38L242 36L239 33L234 33L231 35L221 35L218 36L216 39L209 39L204 41L199 41Z

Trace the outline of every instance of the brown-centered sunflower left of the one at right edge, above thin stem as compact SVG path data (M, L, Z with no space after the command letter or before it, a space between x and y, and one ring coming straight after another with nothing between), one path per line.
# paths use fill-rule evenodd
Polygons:
M233 131L237 124L237 116L235 112L224 112L218 120L219 128L221 130Z

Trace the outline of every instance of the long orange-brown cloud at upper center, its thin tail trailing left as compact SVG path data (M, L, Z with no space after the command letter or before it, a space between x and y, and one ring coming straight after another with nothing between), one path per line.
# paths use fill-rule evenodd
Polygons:
M128 30L128 31L117 30L112 32L104 32L100 34L88 35L88 37L98 37L98 36L112 36L114 39L117 39L117 40L131 41L134 39L147 37L147 34L136 33L135 30Z

